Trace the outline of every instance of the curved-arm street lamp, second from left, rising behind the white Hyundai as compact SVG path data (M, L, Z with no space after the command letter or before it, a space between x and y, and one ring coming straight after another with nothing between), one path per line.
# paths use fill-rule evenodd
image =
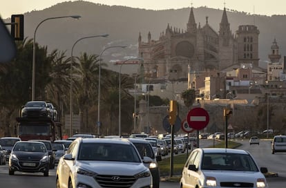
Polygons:
M77 42L81 41L82 39L90 39L95 37L108 37L108 34L82 37L75 41L73 48L75 48L75 44L77 44ZM73 135L73 48L70 55L70 136Z

